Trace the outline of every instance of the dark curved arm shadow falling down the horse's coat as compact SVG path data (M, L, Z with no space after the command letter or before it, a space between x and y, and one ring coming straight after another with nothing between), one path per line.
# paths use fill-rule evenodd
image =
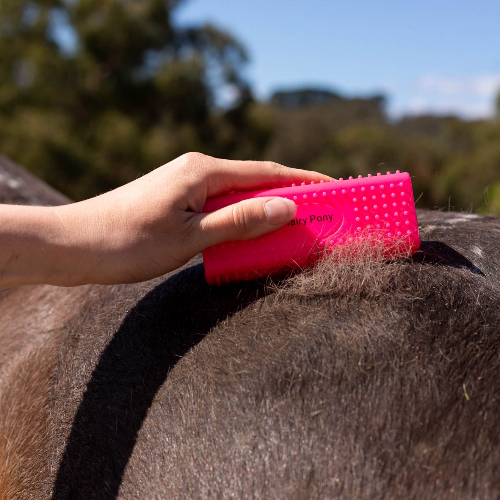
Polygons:
M168 372L217 322L263 292L256 282L208 286L202 264L149 291L115 331L92 372L52 500L116 498L137 432Z

